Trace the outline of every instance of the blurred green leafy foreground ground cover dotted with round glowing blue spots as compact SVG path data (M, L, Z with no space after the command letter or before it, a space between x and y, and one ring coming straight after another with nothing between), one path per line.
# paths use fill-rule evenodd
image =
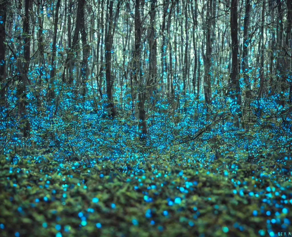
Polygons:
M292 217L287 158L192 156L58 163L0 156L0 235L278 236ZM126 160L126 158L125 158ZM142 160L142 162L140 162ZM289 160L288 160L289 161ZM135 167L135 168L134 168ZM292 229L291 229L292 230ZM283 233L284 235L284 233Z

